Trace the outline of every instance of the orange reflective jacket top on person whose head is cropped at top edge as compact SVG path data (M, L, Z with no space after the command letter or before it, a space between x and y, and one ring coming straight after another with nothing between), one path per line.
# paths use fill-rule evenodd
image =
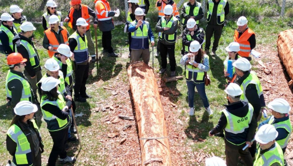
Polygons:
M97 17L99 21L110 20L112 17L108 17L110 9L110 4L106 0L95 0L95 8L97 12Z

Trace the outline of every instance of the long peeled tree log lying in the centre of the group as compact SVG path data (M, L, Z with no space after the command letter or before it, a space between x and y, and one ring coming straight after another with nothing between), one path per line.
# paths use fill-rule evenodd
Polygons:
M128 79L136 113L141 165L170 166L171 156L157 79L144 62L128 67Z

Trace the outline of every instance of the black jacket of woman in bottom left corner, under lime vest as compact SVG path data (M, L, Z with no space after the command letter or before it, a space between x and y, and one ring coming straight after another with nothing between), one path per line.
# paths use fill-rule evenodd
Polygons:
M42 143L42 138L40 136L39 131L33 127L32 122L30 122L29 120L27 122L28 122L28 124L17 121L15 123L15 125L17 125L20 128L20 130L24 133L24 135L26 135L26 138L28 139L28 142L30 143L30 149L33 154L32 160L33 160L33 163L35 163L36 157L34 154L35 154L35 151L38 151L36 148L40 148L41 153L43 153L44 152L44 145ZM33 130L33 131L31 131L31 130ZM34 132L34 133L32 133L32 132ZM34 135L34 137L32 135ZM38 138L38 141L35 141L35 139L33 139L33 138ZM35 145L34 142L39 143L39 145ZM17 144L8 135L6 135L6 148L7 148L7 151L9 151L10 155L12 155L12 156L15 155L16 146L17 146Z

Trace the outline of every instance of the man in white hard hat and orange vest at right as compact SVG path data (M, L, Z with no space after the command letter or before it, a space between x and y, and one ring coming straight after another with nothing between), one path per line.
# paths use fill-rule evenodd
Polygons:
M237 21L238 28L236 28L234 32L234 41L240 44L240 51L238 54L242 58L246 58L250 61L251 57L249 57L249 54L251 50L255 48L256 40L255 33L248 28L247 22L246 17L239 17Z

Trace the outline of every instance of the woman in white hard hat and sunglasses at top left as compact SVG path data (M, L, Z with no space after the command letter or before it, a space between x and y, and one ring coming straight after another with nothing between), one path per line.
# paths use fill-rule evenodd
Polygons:
M50 21L50 17L52 15L56 15L59 19L59 23L62 25L63 22L62 22L62 14L60 11L57 11L56 8L57 8L57 4L55 1L53 0L48 0L47 3L46 3L46 6L47 6L47 12L45 12L43 14L43 20L42 20L42 25L43 25L43 28L44 30L46 31L47 29L51 28L50 24L49 24L49 21ZM63 26L63 25L62 25Z

